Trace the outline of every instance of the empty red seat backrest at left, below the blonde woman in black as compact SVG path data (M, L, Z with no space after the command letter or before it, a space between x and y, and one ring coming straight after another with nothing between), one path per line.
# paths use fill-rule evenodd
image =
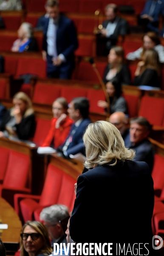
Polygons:
M3 186L23 189L28 187L30 157L11 150L8 157Z

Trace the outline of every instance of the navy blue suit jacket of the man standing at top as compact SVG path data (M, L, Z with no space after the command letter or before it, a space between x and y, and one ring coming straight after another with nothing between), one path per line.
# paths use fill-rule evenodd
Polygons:
M47 52L47 31L49 18L44 19L43 49ZM74 59L74 51L78 48L78 40L74 22L64 15L59 15L57 29L57 54L63 54L66 61Z

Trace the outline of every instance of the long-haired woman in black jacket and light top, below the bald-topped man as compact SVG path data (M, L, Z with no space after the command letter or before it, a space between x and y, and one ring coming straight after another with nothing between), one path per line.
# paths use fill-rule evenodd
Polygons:
M109 52L109 64L107 64L103 76L105 84L113 78L117 78L121 84L131 84L130 71L124 62L123 48L120 46L113 47Z

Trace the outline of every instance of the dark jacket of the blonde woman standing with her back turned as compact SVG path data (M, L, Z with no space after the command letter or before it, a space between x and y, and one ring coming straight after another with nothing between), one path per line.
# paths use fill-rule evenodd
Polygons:
M113 242L110 253L114 256L119 255L116 243L125 243L126 248L128 243L149 243L152 250L153 206L153 179L146 163L129 160L93 168L77 179L71 239L77 243Z

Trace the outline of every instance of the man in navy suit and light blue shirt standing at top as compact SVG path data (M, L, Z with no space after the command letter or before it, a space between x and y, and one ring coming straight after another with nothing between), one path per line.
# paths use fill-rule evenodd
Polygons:
M74 51L78 48L76 28L72 20L59 14L57 0L45 4L48 18L43 26L43 59L50 78L70 79L74 69Z

